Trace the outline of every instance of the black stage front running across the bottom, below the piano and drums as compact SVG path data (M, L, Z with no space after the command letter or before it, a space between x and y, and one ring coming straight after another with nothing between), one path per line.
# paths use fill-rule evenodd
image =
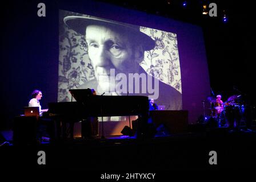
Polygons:
M255 142L255 130L229 131L223 127L147 139L109 136L35 146L5 145L0 147L0 161L2 172L26 171L54 176L75 173L99 181L105 173L156 173L158 179L171 175L188 177L186 174L197 177L201 173L248 177L254 175L256 169ZM37 163L38 151L45 152L45 165ZM217 152L216 165L209 164L210 151Z

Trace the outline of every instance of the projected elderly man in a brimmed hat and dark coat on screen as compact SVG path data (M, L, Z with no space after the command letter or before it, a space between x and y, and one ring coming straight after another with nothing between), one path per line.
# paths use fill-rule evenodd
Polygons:
M78 88L95 88L105 96L147 96L171 110L182 109L182 95L172 86L148 75L139 65L144 52L153 50L155 40L139 26L88 16L66 16L65 24L85 35L87 53L95 78ZM159 94L161 90L161 94Z

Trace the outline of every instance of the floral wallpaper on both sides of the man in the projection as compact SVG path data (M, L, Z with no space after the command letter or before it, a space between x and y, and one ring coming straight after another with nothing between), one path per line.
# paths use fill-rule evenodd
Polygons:
M59 102L71 101L69 89L75 89L84 82L94 79L94 70L87 54L84 36L63 23L63 18L68 15L82 14L59 11ZM154 49L145 51L141 67L149 75L182 93L177 35L146 27L141 27L140 30L155 40Z

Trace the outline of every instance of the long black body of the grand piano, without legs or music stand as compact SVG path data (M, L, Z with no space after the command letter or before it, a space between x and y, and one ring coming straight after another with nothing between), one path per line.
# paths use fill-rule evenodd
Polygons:
M146 96L91 96L82 102L49 102L49 113L70 115L74 118L147 115L149 98Z

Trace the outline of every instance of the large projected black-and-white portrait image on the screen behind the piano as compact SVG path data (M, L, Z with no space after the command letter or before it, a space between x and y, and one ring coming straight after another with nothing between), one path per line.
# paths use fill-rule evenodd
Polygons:
M90 88L182 110L177 34L103 18L59 10L58 102Z

